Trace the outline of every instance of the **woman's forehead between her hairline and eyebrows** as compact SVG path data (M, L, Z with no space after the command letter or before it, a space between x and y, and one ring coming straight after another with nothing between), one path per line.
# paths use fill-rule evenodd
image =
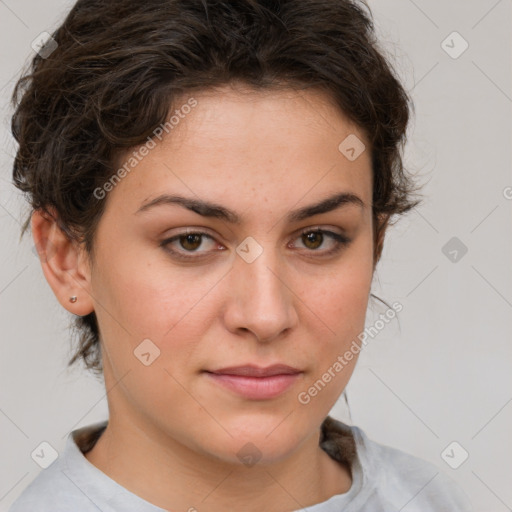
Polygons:
M224 86L183 95L168 119L172 128L153 137L154 147L110 193L131 214L163 193L227 201L237 211L249 204L290 209L334 191L371 201L365 136L321 91ZM354 143L355 159L346 152ZM117 165L134 151L140 147Z

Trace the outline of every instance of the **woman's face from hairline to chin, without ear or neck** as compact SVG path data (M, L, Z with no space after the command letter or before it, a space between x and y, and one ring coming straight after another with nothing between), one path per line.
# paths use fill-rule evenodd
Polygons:
M106 197L89 291L111 421L225 462L266 463L318 431L353 371L356 356L333 368L364 330L372 176L370 152L354 146L362 133L321 93L248 92L191 95L169 135L125 167ZM307 211L339 194L360 203ZM144 208L163 195L219 210ZM208 373L276 364L300 373Z

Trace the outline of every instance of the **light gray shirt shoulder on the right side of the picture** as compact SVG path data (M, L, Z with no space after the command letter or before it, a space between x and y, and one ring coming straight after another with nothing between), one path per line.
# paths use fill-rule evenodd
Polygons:
M351 427L361 463L373 475L375 493L393 505L418 512L472 512L460 485L433 463L370 439Z

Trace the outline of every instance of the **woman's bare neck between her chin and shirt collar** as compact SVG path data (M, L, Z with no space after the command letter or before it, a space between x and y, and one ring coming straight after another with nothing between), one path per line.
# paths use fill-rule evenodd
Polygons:
M319 446L320 432L273 464L232 465L162 433L111 415L85 457L142 499L168 510L239 508L283 512L312 506L350 489L350 470Z

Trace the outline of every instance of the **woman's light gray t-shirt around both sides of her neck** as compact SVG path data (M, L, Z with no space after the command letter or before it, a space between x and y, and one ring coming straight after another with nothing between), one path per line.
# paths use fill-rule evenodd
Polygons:
M84 457L106 425L104 421L71 432L63 452L25 488L9 512L165 512ZM473 512L459 485L434 464L372 441L359 427L331 416L321 432L322 449L349 464L352 486L296 512ZM197 509L204 507L198 504Z

